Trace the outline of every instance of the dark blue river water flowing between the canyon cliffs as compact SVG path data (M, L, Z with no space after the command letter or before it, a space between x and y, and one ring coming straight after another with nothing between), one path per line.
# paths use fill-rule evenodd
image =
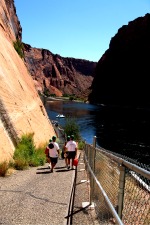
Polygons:
M96 136L97 146L150 165L150 109L56 100L47 101L45 108L61 126L66 118L58 119L58 114L75 118L87 143Z

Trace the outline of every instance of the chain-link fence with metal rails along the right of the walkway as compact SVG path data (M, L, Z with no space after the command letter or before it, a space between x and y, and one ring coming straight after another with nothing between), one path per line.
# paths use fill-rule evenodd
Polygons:
M85 168L99 223L149 225L149 166L93 146L85 145Z

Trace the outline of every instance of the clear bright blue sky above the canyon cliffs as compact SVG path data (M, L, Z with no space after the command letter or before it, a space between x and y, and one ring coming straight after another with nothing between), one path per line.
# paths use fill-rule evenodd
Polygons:
M97 62L123 25L150 13L149 0L14 0L22 41Z

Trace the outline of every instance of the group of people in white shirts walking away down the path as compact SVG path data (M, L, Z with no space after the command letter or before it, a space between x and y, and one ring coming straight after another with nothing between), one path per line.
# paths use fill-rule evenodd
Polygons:
M74 141L74 135L68 136L67 141L65 142L63 148L65 164L67 169L73 169L74 159L77 157L77 143ZM58 158L60 157L60 148L59 144L56 142L56 137L53 136L52 139L49 140L49 144L46 147L46 156L47 162L49 163L48 167L50 168L50 172L53 172L55 165L58 162Z

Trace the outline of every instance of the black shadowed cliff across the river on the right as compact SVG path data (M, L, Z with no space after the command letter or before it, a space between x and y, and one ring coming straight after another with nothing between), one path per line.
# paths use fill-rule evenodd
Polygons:
M89 101L149 105L150 14L122 26L99 60Z

